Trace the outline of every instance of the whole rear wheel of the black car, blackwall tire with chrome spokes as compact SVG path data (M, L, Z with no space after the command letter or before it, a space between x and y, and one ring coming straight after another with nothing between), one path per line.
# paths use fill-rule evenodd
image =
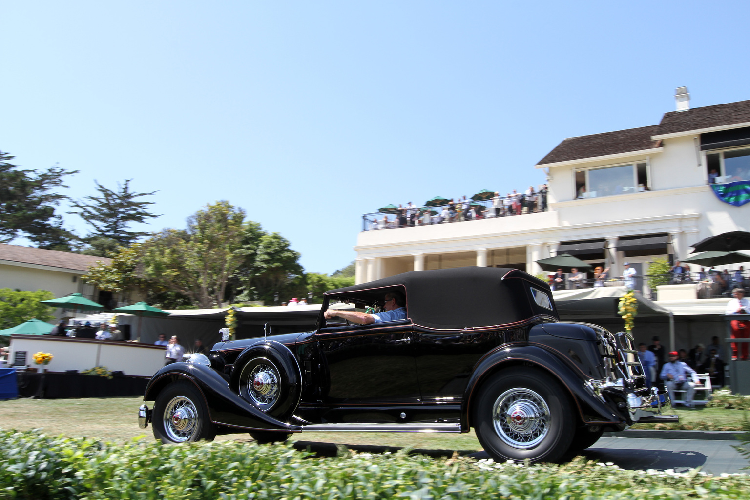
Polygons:
M564 389L529 367L496 373L473 405L479 442L494 460L558 462L571 446L576 420Z

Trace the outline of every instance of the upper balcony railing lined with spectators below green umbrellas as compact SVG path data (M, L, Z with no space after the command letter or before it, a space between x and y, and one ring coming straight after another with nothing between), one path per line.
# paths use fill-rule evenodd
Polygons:
M437 207L404 207L396 211L364 214L362 215L362 231L535 214L547 211L547 193L535 193L531 199L520 199L519 196L503 196L500 198L499 208L493 207L492 199L469 203L468 211L464 211L462 203L457 202L454 211L443 211L443 208L447 208L448 205L440 205Z

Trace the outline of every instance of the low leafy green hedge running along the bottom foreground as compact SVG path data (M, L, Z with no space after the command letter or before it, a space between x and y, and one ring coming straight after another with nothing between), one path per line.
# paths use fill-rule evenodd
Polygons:
M745 499L746 475L523 466L398 454L314 459L290 446L166 446L0 431L10 499Z

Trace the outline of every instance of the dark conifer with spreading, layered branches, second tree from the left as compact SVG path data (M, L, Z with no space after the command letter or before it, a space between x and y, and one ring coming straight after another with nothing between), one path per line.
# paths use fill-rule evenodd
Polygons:
M148 205L154 202L144 202L138 199L142 196L151 196L151 193L134 193L130 190L130 181L125 179L124 184L117 184L117 190L111 190L94 181L99 196L85 196L83 201L74 202L72 205L79 211L68 212L77 214L92 226L93 231L84 238L84 241L92 242L96 238L107 238L114 240L117 244L129 245L148 232L128 231L132 223L143 223L148 219L161 217L146 210ZM101 241L101 240L100 240Z

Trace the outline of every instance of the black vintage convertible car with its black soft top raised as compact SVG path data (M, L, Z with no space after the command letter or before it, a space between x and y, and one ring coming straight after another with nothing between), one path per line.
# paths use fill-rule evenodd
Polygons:
M407 319L326 320L337 302ZM266 325L269 328L269 325ZM308 431L466 433L496 460L565 460L660 415L632 338L559 322L546 283L507 268L413 271L326 292L317 329L217 343L154 374L139 409L162 442ZM662 395L663 398L663 395Z

